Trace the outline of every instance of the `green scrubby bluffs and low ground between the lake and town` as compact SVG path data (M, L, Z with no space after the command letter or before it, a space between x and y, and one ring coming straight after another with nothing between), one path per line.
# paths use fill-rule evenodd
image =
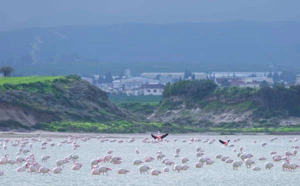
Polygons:
M116 106L78 76L0 78L0 130L297 132L299 124L281 126L276 118L298 116L299 93L299 86L251 89L181 81L167 85L162 100L109 97Z

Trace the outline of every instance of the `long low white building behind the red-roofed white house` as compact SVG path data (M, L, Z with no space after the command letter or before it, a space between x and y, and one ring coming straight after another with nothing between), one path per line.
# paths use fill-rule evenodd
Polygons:
M183 79L184 77L184 72L144 72L141 73L140 76L145 78L155 78L159 74L163 77L171 75L174 79L179 79L180 77ZM202 72L194 72L193 74L195 75L195 79L205 79L207 75L206 73Z

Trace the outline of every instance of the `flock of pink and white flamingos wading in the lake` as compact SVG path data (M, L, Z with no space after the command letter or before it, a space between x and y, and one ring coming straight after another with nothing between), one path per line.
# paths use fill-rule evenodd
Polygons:
M164 142L165 145L167 145L166 143L169 142L169 139L162 139L164 137L167 136L167 134L163 134L162 136L154 136L151 135L154 139L149 140L147 137L143 138L141 141L143 143L161 143ZM69 147L71 147L71 149L74 151L76 150L78 147L80 147L79 143L82 145L83 143L81 142L86 142L91 140L90 137L80 137L80 136L69 136L67 139L60 141L60 143L57 146L66 146L64 144L68 144ZM123 143L123 140L116 140L116 139L108 139L105 137L101 137L101 136L97 136L96 139L92 139L92 140L98 140L99 143L104 143L104 142L118 142L118 144ZM227 140L227 138L226 138ZM233 142L239 142L241 139L240 138L236 138L234 140L232 140ZM270 142L275 142L277 140L277 137L271 138ZM293 142L296 142L298 139L295 138L293 140ZM133 137L130 137L129 140L127 140L127 143L134 143L135 139ZM177 139L173 139L174 142L177 141ZM232 168L233 170L236 170L238 167L240 167L242 164L245 164L245 166L247 168L252 168L252 170L260 170L261 168L258 166L253 166L251 167L251 165L255 164L254 162L254 157L251 153L248 152L243 152L243 147L240 146L238 149L234 148L235 145L234 144L229 144L230 140L227 141L222 141L219 140L225 147L232 147L232 152L237 152L236 157L238 158L238 160L233 160L231 158L229 158L229 156L227 155L222 155L222 154L216 154L215 159L220 159L221 161L223 161L224 163L231 163L232 164ZM179 141L177 141L179 142ZM187 142L188 144L191 143L199 143L199 142L203 142L203 143L208 143L208 144L212 144L215 142L215 139L198 139L198 138L190 138L188 141L187 140L182 140L182 142ZM289 140L289 142L292 142L292 140ZM55 143L52 142L52 139L50 137L47 137L45 139L45 141L42 141L41 137L38 138L31 138L28 139L26 137L20 137L20 138L16 138L14 139L14 141L10 141L9 139L4 139L4 138L0 138L0 152L7 150L7 148L15 148L16 149L16 157L15 158L10 158L10 155L5 153L4 157L0 158L0 176L2 176L4 174L4 172L1 170L1 166L9 166L9 164L13 165L13 164L19 164L20 167L17 167L15 171L17 172L28 172L30 174L34 173L42 173L43 175L51 175L50 172L52 174L57 174L60 173L61 171L64 171L65 167L63 166L64 164L67 163L72 163L72 167L71 170L79 170L82 168L83 163L79 162L79 156L75 153L70 153L68 156L63 157L62 159L57 159L56 160L56 167L50 169L47 166L43 166L41 165L41 163L47 163L50 158L50 156L48 155L43 155L41 157L39 157L39 159L41 160L41 162L36 162L36 157L34 156L34 154L31 152L31 148L32 145L40 145L40 150L44 150L47 147L47 144L49 144L50 148L55 146ZM256 140L253 141L253 143L257 143ZM200 143L199 143L200 144ZM229 144L229 145L228 145ZM261 143L261 148L265 148L265 146L268 145L266 142L262 142ZM162 147L163 148L163 147ZM289 147L290 148L290 147ZM278 161L283 161L281 163L281 167L283 171L294 171L296 168L299 167L299 165L291 162L290 160L290 156L295 156L297 153L297 148L299 148L299 146L297 145L293 145L291 148L293 148L292 151L285 151L284 155L279 155L276 151L270 151L269 154L271 155L272 158L272 162L265 162L265 169L270 169L272 168L274 165L273 163L278 162ZM75 151L74 151L75 152ZM29 153L29 154L28 154ZM135 152L133 151L132 153L136 153L139 154L139 149L135 149ZM189 161L189 159L187 157L182 157L180 160L180 164L175 164L175 160L176 158L179 157L179 153L180 153L180 149L179 148L175 148L174 149L174 158L173 160L170 158L166 158L166 155L164 155L162 153L161 150L158 150L156 152L155 155L153 154L153 156L150 155L146 155L144 156L143 159L134 159L133 160L133 165L139 165L138 168L136 168L139 173L149 173L148 171L150 171L151 175L158 175L162 172L169 172L170 169L172 171L176 171L176 172L180 172L180 171L185 171L187 170L190 166L188 166L186 163L187 161ZM203 157L204 155L204 149L202 149L201 147L196 147L195 149L195 155L199 158L197 162L195 162L194 166L196 168L201 168L203 166L206 165L211 165L213 163L216 163L216 161L213 161L212 159L210 159L209 157ZM91 174L93 175L103 175L104 173L108 175L108 171L111 171L112 169L109 168L108 166L103 166L103 165L99 165L100 163L112 163L112 164L121 164L122 163L122 158L119 156L113 156L113 151L112 150L107 150L107 154L104 155L103 157L99 157L96 159L92 159L90 161L90 171ZM166 165L163 170L159 170L159 169L152 169L149 165L146 164L150 164L151 161L153 160L157 160L157 161L161 161L164 165ZM257 158L258 161L265 161L267 160L266 157L258 157ZM300 160L300 157L299 157ZM182 164L181 164L182 163ZM142 164L142 165L140 165ZM204 165L205 164L205 165ZM107 164L106 164L107 165ZM117 170L118 174L126 174L130 172L130 170L126 169L126 168L119 168Z

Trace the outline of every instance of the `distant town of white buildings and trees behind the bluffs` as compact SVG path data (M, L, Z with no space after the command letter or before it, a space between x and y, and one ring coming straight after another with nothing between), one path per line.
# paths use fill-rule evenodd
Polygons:
M92 75L81 76L81 79L94 84L108 95L161 95L166 83L174 83L180 80L201 80L211 79L218 86L238 86L259 88L272 86L276 83L300 85L300 74L292 76L288 72L145 72L140 76L132 77L130 70L126 69L119 76L111 76L107 73L103 76Z

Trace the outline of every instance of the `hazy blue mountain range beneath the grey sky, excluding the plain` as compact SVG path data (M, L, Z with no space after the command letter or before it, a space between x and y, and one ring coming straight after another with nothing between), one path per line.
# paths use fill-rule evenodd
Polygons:
M78 53L101 62L300 65L300 22L114 24L0 32L0 61Z

